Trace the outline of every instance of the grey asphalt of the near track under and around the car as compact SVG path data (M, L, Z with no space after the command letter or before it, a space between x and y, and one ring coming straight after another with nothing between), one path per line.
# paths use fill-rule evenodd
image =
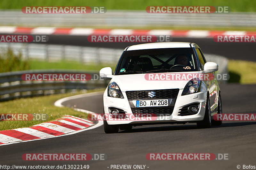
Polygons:
M256 113L256 85L229 84L220 88L223 113ZM62 104L102 113L102 102L102 94L98 94ZM256 165L255 146L255 121L228 121L210 129L197 129L194 123L147 125L116 134L105 134L100 126L69 136L0 146L0 165L86 164L93 170L108 170L117 164L146 165L148 170L237 169L237 165ZM24 161L24 153L105 153L107 160ZM229 153L230 160L147 160L147 153Z

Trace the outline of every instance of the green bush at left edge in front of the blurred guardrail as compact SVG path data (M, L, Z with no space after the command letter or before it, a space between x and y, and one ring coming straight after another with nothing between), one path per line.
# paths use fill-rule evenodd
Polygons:
M22 54L19 52L15 55L11 48L8 48L3 53L0 53L0 72L29 70L30 62L22 59Z

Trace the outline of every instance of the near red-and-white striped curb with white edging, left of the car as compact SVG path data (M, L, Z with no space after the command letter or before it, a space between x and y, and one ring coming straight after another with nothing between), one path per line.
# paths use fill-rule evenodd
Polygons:
M96 92L97 94L97 92ZM64 107L61 103L71 99L77 99L86 96L92 96L95 93L88 93L82 95L71 96L57 100L54 105ZM80 112L95 114L93 112L75 109ZM101 126L103 123L99 121L94 124L92 121L85 120L71 115L63 115L60 119L50 122L40 123L28 128L18 128L12 130L0 131L0 146L6 144L14 144L19 142L28 142L40 139L47 139L52 137L60 137L65 135L72 135L82 132L84 130L94 129Z

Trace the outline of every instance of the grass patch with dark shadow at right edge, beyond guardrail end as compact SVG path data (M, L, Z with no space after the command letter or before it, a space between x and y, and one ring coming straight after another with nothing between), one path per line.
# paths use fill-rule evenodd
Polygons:
M256 62L229 60L229 83L256 84Z

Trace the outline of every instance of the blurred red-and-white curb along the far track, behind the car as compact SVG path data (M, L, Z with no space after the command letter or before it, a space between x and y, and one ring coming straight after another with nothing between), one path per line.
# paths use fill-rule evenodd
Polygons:
M215 35L255 35L250 31L208 31L208 30L140 30L140 29L94 29L61 27L0 26L0 33L43 34L43 35L170 35L186 38L212 38Z

